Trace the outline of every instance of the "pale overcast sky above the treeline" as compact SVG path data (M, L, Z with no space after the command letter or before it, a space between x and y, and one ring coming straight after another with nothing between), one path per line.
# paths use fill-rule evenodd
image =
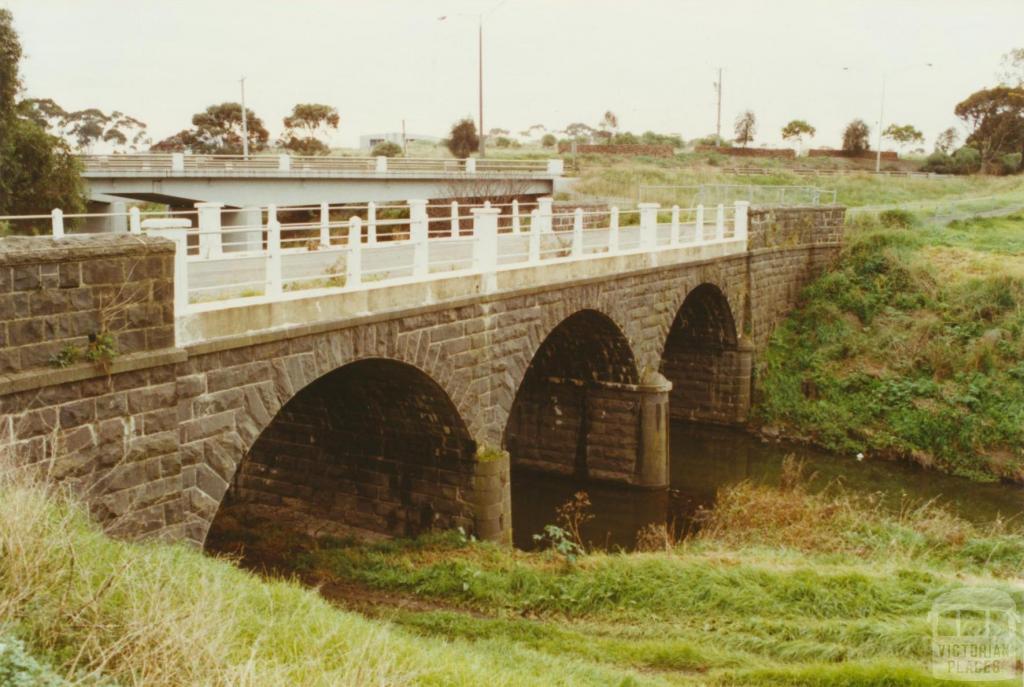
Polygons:
M791 119L838 145L879 119L935 134L955 103L994 85L1024 47L1024 0L0 0L25 48L26 94L120 110L154 139L214 102L247 101L271 134L296 102L338 109L336 144L399 130L443 135L476 117L476 17L484 30L484 124L518 131L596 124L723 135L753 110L756 141ZM447 19L438 20L438 16ZM932 62L933 67L925 67ZM844 68L847 68L844 70Z

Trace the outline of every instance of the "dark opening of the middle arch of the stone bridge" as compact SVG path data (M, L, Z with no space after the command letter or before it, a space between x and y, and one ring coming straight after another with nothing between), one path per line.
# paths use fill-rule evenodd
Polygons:
M635 424L638 407L622 401L640 374L618 326L598 310L579 310L534 350L502 439L513 468L581 478L632 474L639 438L616 438L614 447L605 440L620 431L618 415Z

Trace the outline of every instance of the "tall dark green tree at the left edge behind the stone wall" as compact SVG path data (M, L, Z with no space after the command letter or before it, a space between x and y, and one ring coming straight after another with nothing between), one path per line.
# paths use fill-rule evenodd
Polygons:
M0 215L78 212L85 207L78 161L31 116L30 104L16 101L20 57L13 17L0 8Z

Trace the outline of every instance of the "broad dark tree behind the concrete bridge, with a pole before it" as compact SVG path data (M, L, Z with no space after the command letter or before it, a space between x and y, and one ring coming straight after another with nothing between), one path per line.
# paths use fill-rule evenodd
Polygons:
M270 134L263 126L263 120L253 114L253 111L247 110L246 126L249 149L254 153L265 149ZM241 155L242 105L238 102L210 105L193 116L191 129L183 129L165 138L152 149L202 155Z

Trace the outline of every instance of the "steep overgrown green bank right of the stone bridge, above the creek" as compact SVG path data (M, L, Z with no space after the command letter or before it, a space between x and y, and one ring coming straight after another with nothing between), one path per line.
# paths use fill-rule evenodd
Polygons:
M760 422L828 448L1024 480L1024 214L864 215L760 366Z

